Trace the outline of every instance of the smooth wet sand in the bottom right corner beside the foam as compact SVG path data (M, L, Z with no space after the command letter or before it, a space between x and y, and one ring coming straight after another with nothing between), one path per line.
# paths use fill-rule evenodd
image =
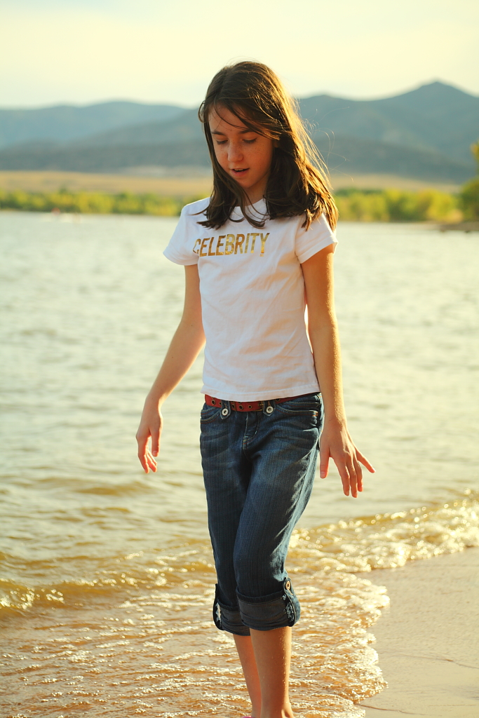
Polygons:
M389 687L366 718L479 716L479 549L358 574L391 599L372 630Z

